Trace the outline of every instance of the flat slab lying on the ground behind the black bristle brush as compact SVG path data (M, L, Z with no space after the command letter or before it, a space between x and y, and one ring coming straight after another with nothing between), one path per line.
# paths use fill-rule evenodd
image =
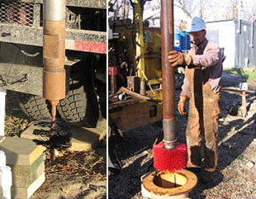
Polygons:
M69 128L72 133L71 148L73 151L88 151L94 149L99 140L107 135L107 121L106 119L101 119L98 121L97 128L85 128L81 126L75 126L70 124ZM26 139L37 139L45 140L45 137L41 135L34 135L34 130L49 130L49 127L40 127L32 124L25 131L21 133L21 138Z

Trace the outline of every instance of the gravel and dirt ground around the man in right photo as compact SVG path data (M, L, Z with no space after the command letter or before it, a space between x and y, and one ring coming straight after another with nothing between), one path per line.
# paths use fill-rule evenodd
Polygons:
M238 75L223 74L218 168L212 182L202 184L198 180L197 187L189 193L191 198L256 198L256 87L249 82L248 115L232 116L241 106L241 81ZM176 91L176 105L179 93ZM186 143L187 116L180 116L178 111L175 116L178 141ZM162 124L157 122L111 138L109 150L116 152L122 168L108 173L109 198L146 198L140 192L140 177L154 171L153 159L147 155L161 130ZM116 159L113 162L118 163Z

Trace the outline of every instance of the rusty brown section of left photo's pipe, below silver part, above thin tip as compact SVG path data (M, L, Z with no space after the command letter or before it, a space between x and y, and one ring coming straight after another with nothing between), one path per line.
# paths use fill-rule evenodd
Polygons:
M59 101L65 97L65 21L44 21L43 97Z

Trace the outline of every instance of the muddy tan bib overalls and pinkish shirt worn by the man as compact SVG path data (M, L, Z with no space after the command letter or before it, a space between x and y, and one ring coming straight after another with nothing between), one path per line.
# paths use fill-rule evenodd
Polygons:
M190 96L186 130L187 167L201 165L201 138L203 137L205 170L215 172L218 161L217 139L222 73L220 49L205 40L199 48L193 48L190 54L193 62L201 64L201 67L186 67L181 93L181 95Z

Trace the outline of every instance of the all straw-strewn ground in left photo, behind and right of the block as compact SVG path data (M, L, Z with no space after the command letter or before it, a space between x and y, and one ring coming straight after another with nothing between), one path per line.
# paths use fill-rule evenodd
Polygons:
M5 132L18 136L31 123L19 107L17 92L7 91ZM60 153L55 160L46 152L45 182L31 199L102 199L107 197L107 143L89 152Z

